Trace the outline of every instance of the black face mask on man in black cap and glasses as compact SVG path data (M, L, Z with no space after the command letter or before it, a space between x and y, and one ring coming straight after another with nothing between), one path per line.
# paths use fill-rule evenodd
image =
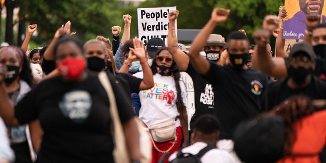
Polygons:
M288 76L293 78L296 84L303 84L306 82L306 79L309 74L312 74L313 70L310 67L309 69L305 69L304 67L294 68L290 66L287 70Z

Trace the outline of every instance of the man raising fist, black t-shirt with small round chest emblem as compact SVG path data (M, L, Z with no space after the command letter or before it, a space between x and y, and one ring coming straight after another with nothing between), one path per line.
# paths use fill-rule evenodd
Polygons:
M221 8L212 11L211 18L192 42L188 55L194 68L211 82L214 89L214 115L222 126L218 148L234 154L233 130L240 121L265 110L262 103L266 99L268 80L260 71L246 65L249 40L242 32L232 32L227 39L230 64L219 66L200 56L199 52L205 46L203 40L207 40L215 26L225 21L229 13L230 10Z

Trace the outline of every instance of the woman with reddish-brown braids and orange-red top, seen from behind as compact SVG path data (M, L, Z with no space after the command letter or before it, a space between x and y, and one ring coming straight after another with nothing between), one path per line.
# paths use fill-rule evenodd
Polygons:
M305 96L291 96L269 113L286 122L284 157L278 162L320 162L319 153L326 142L326 110L314 112Z

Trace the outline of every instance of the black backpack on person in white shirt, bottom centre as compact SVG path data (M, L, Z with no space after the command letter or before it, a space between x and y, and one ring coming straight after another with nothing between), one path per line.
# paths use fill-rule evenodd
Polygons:
M169 163L201 163L200 158L209 150L213 149L212 146L207 145L200 150L197 154L182 153L181 149L177 153L177 157L171 160Z

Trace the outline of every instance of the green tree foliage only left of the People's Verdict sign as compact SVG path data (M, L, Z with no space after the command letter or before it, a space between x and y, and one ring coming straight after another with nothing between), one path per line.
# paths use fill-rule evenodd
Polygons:
M108 37L119 16L115 0L19 1L19 17L26 24L37 24L47 43L62 24L71 21L71 31L84 41L97 35ZM111 36L111 35L110 35Z

